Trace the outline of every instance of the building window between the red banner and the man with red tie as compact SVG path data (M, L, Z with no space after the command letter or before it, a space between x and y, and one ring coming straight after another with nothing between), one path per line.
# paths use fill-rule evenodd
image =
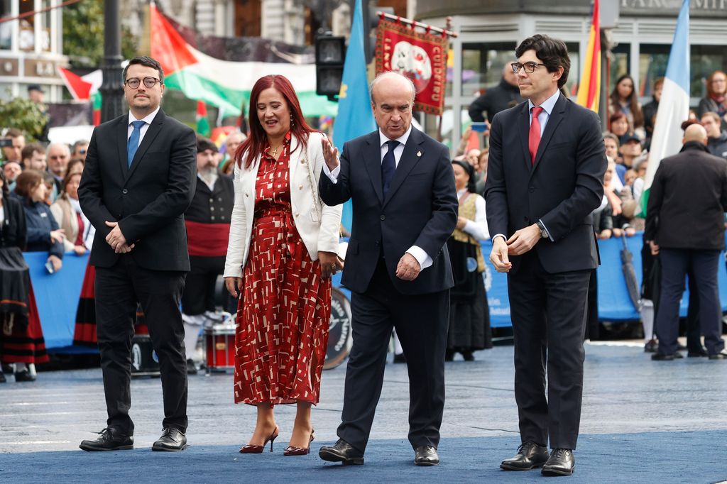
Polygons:
M502 68L515 61L515 47L515 42L462 44L462 96L477 97L486 87L497 85Z

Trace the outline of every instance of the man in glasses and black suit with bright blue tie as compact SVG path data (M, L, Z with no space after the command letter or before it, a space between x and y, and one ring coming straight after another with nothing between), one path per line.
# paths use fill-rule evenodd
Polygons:
M180 297L190 269L183 214L196 182L196 137L160 108L164 73L150 57L124 68L129 114L94 130L79 201L96 227L96 321L108 420L84 451L134 446L131 340L140 302L159 358L164 430L154 451L187 445L187 363Z

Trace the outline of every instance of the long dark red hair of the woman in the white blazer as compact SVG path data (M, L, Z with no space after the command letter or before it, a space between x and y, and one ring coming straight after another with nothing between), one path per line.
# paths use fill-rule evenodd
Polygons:
M265 129L263 129L262 124L260 124L260 119L257 117L257 100L260 99L260 93L270 87L276 89L288 104L288 110L291 116L290 132L300 142L298 146L301 146L303 150L307 149L308 134L317 131L305 122L302 110L300 109L300 101L298 101L295 89L293 89L293 85L288 78L280 76L279 74L263 76L257 79L257 82L252 86L252 91L250 92L250 135L235 151L235 160L240 167L243 164L242 158L244 155L245 168L252 166L255 158L257 158L258 154L262 153L262 150L265 149L265 143L268 142Z

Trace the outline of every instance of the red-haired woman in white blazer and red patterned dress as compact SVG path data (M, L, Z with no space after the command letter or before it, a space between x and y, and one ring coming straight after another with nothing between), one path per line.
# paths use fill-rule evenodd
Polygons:
M286 456L309 453L331 315L341 207L318 197L323 134L305 122L284 76L258 79L250 136L236 151L225 286L239 298L235 402L257 406L241 453L278 437L273 406L297 403Z

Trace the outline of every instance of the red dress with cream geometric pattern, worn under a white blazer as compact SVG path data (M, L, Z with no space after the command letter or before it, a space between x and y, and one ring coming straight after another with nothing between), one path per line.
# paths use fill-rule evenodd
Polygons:
M289 135L276 161L265 148L244 289L237 312L235 403L318 403L331 317L331 280L321 278L295 228ZM299 148L300 149L300 148Z

